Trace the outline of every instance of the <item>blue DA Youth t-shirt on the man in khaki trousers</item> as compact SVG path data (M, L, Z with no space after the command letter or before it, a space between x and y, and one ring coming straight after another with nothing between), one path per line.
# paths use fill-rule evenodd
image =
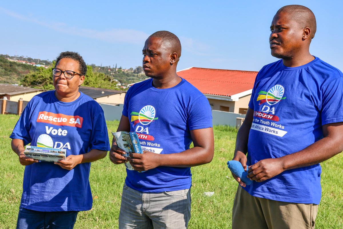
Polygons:
M280 158L323 138L322 125L343 122L342 72L315 57L306 65L286 67L282 60L256 76L249 107L254 111L248 161ZM276 201L319 204L321 166L292 169L245 190Z

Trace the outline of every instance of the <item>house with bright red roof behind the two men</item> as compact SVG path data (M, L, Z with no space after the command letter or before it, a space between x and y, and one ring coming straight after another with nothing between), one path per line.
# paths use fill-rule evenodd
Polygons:
M209 100L212 110L246 114L257 71L191 67L177 72Z

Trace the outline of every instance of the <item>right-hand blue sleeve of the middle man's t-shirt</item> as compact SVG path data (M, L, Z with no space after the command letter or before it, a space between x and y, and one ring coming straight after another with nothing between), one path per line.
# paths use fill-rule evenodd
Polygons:
M190 130L212 127L212 110L205 96L195 100L189 110L188 127Z

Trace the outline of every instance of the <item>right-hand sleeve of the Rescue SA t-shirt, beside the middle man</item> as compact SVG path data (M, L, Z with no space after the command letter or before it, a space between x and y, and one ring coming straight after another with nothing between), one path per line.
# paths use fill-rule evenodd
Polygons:
M104 112L99 112L93 120L90 149L109 151L109 139Z

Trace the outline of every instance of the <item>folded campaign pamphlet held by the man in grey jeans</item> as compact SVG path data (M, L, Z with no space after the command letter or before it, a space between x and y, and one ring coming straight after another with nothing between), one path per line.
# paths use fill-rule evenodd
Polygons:
M130 157L130 153L143 153L136 132L119 131L116 133L112 132L112 135L117 146L126 152L123 155L124 157ZM128 170L134 170L130 162L126 162L125 166Z

